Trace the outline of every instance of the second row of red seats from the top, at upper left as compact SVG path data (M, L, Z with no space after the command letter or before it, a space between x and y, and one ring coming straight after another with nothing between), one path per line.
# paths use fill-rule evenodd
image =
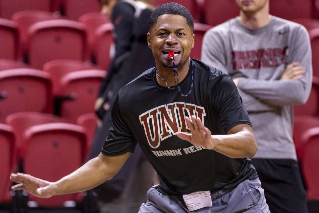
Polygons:
M93 18L101 25L92 25L85 17L80 19L83 23L55 18L46 11L20 11L12 20L0 19L0 58L23 60L41 69L54 59L88 60L94 54L94 61L107 69L113 25L99 13Z

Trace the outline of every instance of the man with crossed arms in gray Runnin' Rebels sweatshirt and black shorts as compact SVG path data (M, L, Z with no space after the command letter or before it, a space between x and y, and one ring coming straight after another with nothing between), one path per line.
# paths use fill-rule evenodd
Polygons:
M239 17L206 32L201 60L228 73L239 90L257 140L252 164L269 210L306 213L292 131L293 105L306 103L312 85L308 32L272 16L269 0L236 4Z

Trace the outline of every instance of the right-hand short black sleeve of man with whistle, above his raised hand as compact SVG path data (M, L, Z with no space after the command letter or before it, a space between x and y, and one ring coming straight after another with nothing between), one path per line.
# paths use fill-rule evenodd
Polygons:
M251 122L247 110L238 93L237 87L228 74L216 77L211 87L212 105L219 114L224 131L227 133L232 127Z

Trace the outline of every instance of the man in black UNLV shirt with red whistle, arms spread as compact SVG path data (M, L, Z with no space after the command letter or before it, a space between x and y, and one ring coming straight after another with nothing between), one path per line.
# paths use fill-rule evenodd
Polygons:
M233 80L189 58L189 11L161 5L149 25L156 67L120 90L100 155L57 182L12 174L21 183L12 189L41 197L87 190L112 178L138 143L160 179L139 212L269 212L248 158L256 140Z

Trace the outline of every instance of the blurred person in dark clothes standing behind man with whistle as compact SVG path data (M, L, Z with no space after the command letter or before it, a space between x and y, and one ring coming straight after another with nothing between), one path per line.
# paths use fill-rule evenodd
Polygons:
M115 55L95 103L99 122L88 160L98 156L103 147L111 127L112 104L120 88L155 66L152 51L147 45L152 6L147 1L98 1L101 13L107 15L114 25ZM93 189L98 195L100 212L137 212L140 204L146 202L145 194L153 185L154 173L137 145L119 173Z

